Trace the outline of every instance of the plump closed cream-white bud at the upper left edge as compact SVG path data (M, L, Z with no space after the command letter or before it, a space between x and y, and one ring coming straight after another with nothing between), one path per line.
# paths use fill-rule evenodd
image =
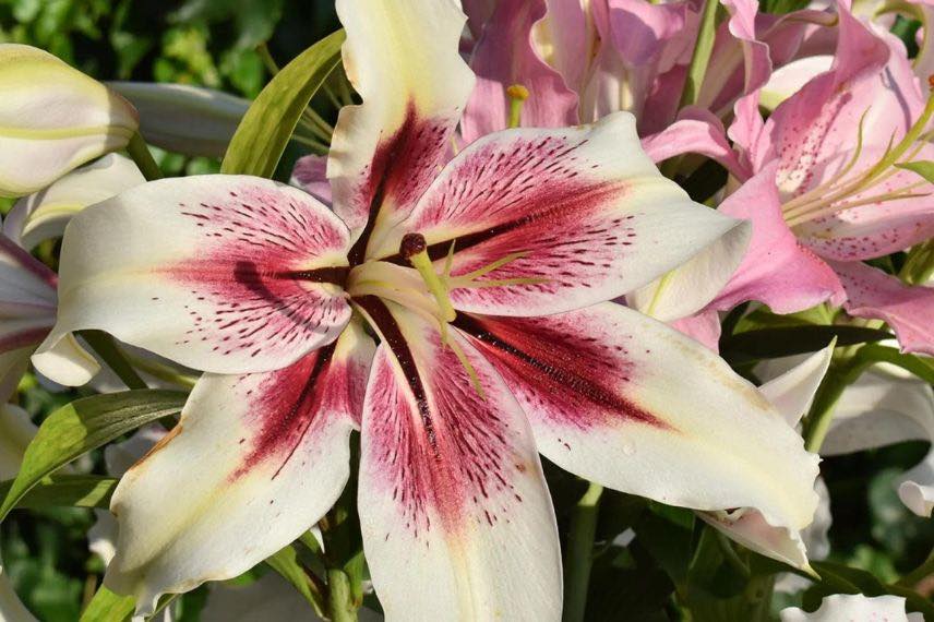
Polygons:
M40 49L0 44L0 196L22 196L128 145L139 125L121 96Z

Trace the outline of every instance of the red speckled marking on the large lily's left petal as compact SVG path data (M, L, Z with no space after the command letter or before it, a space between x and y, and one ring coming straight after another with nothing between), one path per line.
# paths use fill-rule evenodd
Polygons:
M207 240L193 259L166 271L190 288L184 311L192 327L181 344L196 339L221 355L255 357L336 336L349 306L339 290L315 283L339 285L346 267L308 266L343 255L348 234L314 207L249 187L223 202L179 205Z

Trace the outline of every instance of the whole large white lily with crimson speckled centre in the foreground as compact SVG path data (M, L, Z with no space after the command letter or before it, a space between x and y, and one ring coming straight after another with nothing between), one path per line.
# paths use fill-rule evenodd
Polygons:
M616 490L806 526L817 466L800 436L713 352L609 302L740 223L664 179L628 113L489 134L442 167L474 84L465 16L337 11L363 104L334 132L333 210L201 176L128 190L65 232L40 351L93 327L205 371L115 491L106 584L146 613L282 549L340 494L354 429L390 619L560 618L539 452Z

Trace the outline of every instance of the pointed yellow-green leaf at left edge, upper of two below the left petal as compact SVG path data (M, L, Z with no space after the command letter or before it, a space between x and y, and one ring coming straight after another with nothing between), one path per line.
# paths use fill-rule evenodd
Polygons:
M178 415L185 394L176 391L124 391L83 397L49 415L26 447L0 521L46 476L74 458L151 421Z

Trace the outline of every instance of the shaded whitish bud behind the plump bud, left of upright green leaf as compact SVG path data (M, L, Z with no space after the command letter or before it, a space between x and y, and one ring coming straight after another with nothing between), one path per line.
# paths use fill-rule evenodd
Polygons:
M108 82L140 112L147 143L185 155L220 157L250 101L187 84Z

